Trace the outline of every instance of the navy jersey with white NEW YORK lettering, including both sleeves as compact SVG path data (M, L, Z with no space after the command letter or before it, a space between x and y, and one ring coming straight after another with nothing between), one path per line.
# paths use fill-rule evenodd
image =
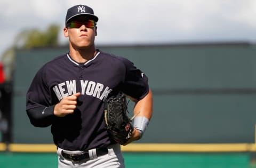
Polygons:
M118 91L140 100L149 92L148 78L131 61L99 50L82 65L65 54L39 69L27 92L26 110L42 109L29 115L30 122L51 125L54 143L62 149L106 147L112 142L103 121L103 101ZM54 105L77 92L81 95L74 113L54 116Z

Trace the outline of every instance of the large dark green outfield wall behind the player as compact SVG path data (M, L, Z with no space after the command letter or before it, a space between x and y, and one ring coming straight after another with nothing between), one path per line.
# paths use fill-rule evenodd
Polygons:
M149 77L154 114L138 143L252 143L256 46L249 43L98 46L130 59ZM52 143L50 127L26 115L36 71L68 47L17 50L13 74L14 143ZM129 108L133 105L130 104Z

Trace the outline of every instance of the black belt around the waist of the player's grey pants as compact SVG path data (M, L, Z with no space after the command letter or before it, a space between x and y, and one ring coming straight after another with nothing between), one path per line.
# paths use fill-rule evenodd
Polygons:
M102 155L106 155L108 154L108 149L107 148L100 148L100 149L96 149L96 155L97 156L102 156ZM89 151L83 151L83 153L81 154L67 154L65 153L65 151L61 151L61 155L67 159L68 161L71 162L79 162L82 159L89 159Z

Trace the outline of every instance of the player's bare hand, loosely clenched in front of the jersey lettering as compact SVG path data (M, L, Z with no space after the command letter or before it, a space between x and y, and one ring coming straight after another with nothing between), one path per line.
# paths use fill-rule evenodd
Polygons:
M81 93L75 93L69 95L60 100L57 105L54 107L54 115L57 117L65 117L68 114L72 114L75 111L77 98L81 95Z

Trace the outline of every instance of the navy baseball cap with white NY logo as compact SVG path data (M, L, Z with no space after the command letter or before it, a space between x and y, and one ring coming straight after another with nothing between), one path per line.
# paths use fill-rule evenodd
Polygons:
M78 15L85 15L86 17L94 20L95 22L99 20L99 18L96 15L94 15L93 9L91 9L91 7L86 5L75 5L73 7L70 7L67 11L66 25L70 19Z

